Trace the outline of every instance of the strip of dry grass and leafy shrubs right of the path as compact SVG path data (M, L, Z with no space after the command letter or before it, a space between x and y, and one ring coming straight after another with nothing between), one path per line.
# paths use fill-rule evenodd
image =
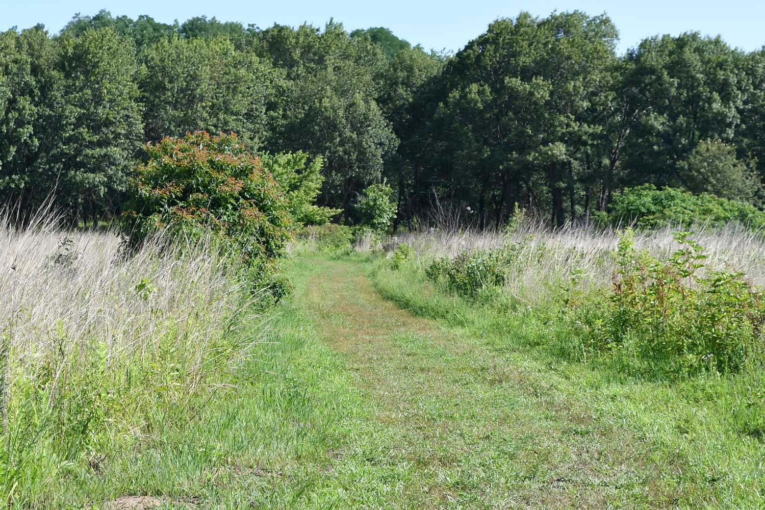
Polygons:
M547 346L567 359L658 378L745 369L763 358L765 238L735 224L678 230L553 230L527 220L397 241L441 291L555 324Z

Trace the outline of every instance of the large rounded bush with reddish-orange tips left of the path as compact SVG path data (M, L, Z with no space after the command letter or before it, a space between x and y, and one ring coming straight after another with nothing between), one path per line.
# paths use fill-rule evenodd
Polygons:
M288 200L259 158L236 135L195 132L148 144L132 201L123 215L130 245L160 229L197 238L212 232L252 274L257 287L273 285L276 262L291 237Z

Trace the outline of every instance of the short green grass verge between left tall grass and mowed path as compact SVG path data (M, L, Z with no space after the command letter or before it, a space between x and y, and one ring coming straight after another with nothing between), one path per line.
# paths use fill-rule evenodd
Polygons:
M353 391L299 310L274 310L254 359L189 406L153 417L138 447L67 479L54 507L151 495L168 508L296 508L330 465Z

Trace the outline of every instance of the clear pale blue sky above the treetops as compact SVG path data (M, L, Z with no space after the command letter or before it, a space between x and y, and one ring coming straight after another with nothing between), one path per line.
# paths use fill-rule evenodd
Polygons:
M158 21L184 21L197 15L215 16L221 21L253 23L261 28L274 23L324 24L330 17L349 30L383 26L412 44L427 49L459 50L467 41L486 30L498 17L513 17L519 11L549 15L554 10L579 9L588 14L606 12L619 28L620 50L636 45L643 37L700 31L720 34L725 41L744 50L765 45L765 2L763 0L640 0L639 2L597 2L596 0L537 0L499 2L474 0L418 2L415 0L285 0L283 2L209 2L209 0L0 0L0 30L13 26L28 28L43 23L59 31L76 12L95 14L106 8L112 15L150 15Z

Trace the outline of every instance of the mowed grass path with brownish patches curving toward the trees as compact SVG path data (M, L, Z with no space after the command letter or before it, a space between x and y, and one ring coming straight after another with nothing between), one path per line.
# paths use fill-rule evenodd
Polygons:
M682 466L496 338L400 310L367 266L298 260L293 306L356 398L307 508L672 508ZM679 499L680 498L680 499Z

